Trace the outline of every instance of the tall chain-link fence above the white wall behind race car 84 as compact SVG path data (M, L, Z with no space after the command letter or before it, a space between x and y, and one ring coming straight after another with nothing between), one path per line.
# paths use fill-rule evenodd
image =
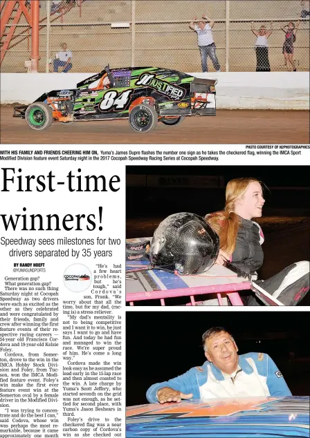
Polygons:
M42 72L53 71L62 43L73 54L72 72L96 72L107 64L113 68L161 66L199 72L203 69L204 53L209 71L219 67L221 71L309 71L309 1L62 0L56 1L58 6L53 0L40 3ZM47 5L52 11L51 23L46 19ZM206 28L205 23L199 23L199 19L204 21L203 15L208 21ZM190 28L194 17L197 31ZM8 23L1 39L2 50L10 31L12 26ZM199 50L198 44L207 49ZM212 62L212 53L219 66ZM30 57L31 30L21 17L1 71L24 72L25 61Z

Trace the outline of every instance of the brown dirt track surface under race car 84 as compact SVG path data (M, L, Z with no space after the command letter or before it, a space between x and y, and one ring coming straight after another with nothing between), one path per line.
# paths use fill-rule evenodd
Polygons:
M309 111L218 110L215 117L186 117L180 126L158 123L134 133L127 120L54 123L33 131L1 106L1 144L307 144Z

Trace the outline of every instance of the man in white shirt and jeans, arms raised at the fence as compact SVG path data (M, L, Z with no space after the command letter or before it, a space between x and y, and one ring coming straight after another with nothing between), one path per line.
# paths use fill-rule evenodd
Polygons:
M203 15L202 18L206 21L198 21L195 23L191 21L190 28L197 32L198 46L201 55L201 67L203 72L208 72L208 56L210 56L212 64L217 71L221 71L221 66L219 65L219 60L217 59L215 40L212 37L212 27L214 26L214 20ZM197 20L197 17L194 17Z

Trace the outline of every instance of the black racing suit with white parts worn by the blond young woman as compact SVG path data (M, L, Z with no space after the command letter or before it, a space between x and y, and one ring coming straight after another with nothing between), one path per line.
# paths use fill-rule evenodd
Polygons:
M257 280L256 270L262 266L264 234L253 220L241 219L232 265L252 274L252 279L266 292L284 305L296 305L309 291L309 262L293 263L268 280ZM246 305L263 305L255 295L248 297Z

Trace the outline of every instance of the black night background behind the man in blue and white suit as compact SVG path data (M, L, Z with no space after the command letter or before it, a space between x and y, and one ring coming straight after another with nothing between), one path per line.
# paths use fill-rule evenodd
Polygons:
M307 312L127 312L127 406L146 403L153 383L202 365L201 336L214 326L232 332L239 354L269 354L293 395L310 394ZM295 353L294 361L289 352Z

